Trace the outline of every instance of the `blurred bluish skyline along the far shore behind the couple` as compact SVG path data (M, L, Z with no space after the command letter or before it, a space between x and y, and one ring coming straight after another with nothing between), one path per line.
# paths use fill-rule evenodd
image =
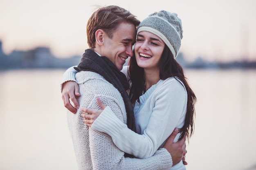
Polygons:
M48 47L37 47L29 51L14 50L10 55L2 51L0 41L0 70L29 69L29 68L69 68L79 64L81 56L69 58L58 58L52 55ZM177 61L184 67L190 69L230 69L230 68L256 68L256 61L233 61L229 63L206 62L198 57L193 62L186 61L183 53L179 53ZM127 63L126 63L127 64Z

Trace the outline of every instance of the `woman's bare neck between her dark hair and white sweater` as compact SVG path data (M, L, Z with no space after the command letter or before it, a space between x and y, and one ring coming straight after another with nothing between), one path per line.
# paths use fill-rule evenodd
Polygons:
M153 86L154 84L157 84L157 82L160 80L159 70L146 70L146 69L144 69L144 76L145 76L145 89L146 89L146 91L151 86Z

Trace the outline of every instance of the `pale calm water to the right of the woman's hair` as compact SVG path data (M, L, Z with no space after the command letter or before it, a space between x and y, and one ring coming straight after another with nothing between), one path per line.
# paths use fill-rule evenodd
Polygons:
M256 165L256 71L190 71L198 97L191 170L245 170Z

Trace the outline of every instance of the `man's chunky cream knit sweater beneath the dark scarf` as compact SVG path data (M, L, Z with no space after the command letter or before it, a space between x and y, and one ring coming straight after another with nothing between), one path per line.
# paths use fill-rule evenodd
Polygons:
M75 73L74 69L72 71ZM70 80L73 73L65 73L63 82ZM126 124L125 105L119 91L97 73L76 73L76 82L81 94L78 98L80 108L75 115L67 113L67 122L79 170L168 170L172 166L171 155L164 148L146 159L125 158L124 152L115 146L108 134L88 128L81 117L81 108L100 109L97 97L123 124Z

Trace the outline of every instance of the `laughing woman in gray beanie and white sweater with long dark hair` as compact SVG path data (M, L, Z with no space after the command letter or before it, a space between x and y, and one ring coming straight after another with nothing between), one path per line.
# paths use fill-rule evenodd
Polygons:
M129 95L134 104L138 134L128 129L103 104L101 106L105 109L102 113L83 109L85 113L90 113L82 114L88 126L108 133L120 150L135 157L152 156L164 145L175 127L180 131L176 141L184 135L189 138L193 133L196 97L182 67L175 60L182 32L177 14L167 11L149 15L138 26L135 57L130 58L128 71L123 69L131 84ZM171 169L186 168L181 161Z

